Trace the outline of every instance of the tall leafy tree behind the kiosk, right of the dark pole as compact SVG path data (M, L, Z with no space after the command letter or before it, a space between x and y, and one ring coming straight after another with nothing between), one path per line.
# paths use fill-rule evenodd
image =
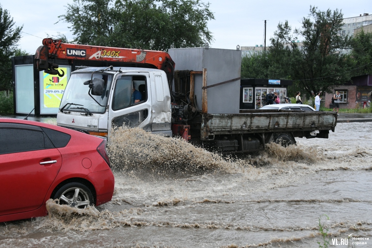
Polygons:
M280 71L276 67L282 67L285 63L279 61L286 58L289 70L283 70L282 76L297 81L310 95L330 91L331 86L349 81L352 63L349 56L338 52L347 48L349 42L348 36L338 35L342 21L343 14L337 9L324 12L310 6L310 14L302 19L301 29L292 32L288 21L279 23L269 49L272 61L277 61L272 69ZM303 39L302 48L294 42L298 36Z

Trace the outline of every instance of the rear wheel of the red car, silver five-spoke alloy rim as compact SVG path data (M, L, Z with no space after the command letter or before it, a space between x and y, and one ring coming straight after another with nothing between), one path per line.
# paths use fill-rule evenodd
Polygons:
M86 208L94 204L92 192L82 183L68 183L62 186L53 199L58 199L61 205L66 204L76 208Z

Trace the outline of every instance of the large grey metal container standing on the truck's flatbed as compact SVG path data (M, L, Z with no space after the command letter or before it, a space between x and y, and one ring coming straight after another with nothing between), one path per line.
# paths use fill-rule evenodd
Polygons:
M175 70L206 72L207 106L210 114L239 113L241 51L218 48L176 48L168 53L176 64ZM233 80L233 81L230 81ZM228 83L223 83L230 81ZM215 84L219 84L214 86ZM199 110L202 110L203 77L195 75L195 96Z

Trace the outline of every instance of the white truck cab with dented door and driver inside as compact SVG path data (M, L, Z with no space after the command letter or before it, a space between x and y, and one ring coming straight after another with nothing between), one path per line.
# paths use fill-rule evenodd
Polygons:
M135 90L140 101L134 99ZM99 136L122 126L172 136L167 75L133 67L76 70L61 99L57 124Z

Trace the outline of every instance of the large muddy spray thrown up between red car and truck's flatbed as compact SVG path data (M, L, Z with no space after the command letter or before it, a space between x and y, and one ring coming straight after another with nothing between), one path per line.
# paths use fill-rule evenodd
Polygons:
M203 174L205 170L231 172L238 165L228 157L195 147L183 139L154 135L139 128L116 129L108 139L108 152L114 171Z

